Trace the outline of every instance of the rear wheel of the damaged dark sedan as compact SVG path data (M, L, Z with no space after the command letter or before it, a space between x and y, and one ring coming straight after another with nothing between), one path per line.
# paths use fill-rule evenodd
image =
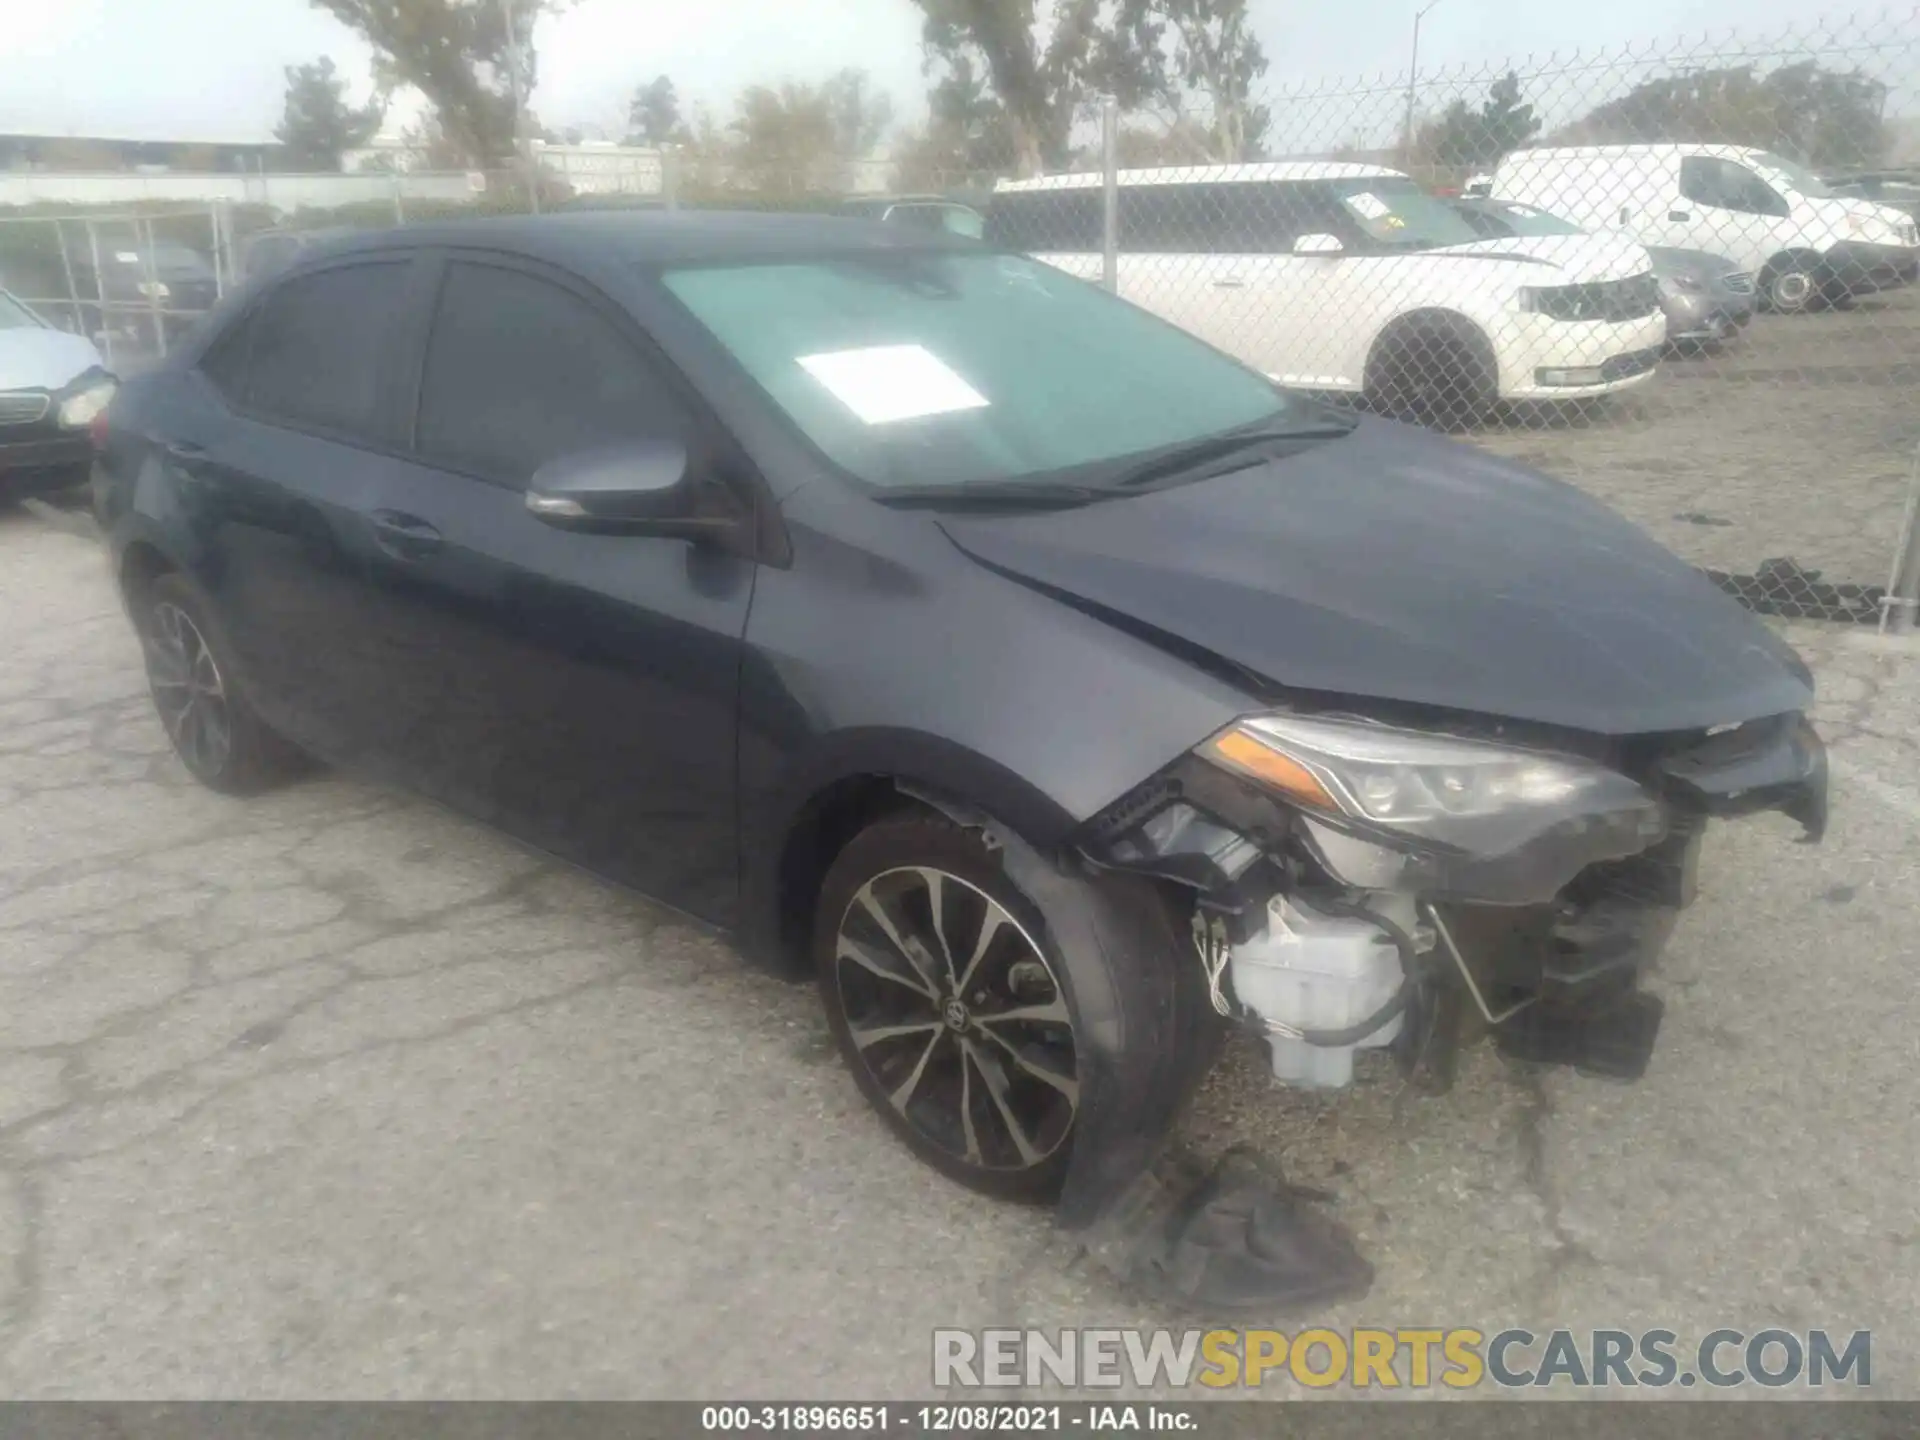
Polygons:
M161 574L144 586L134 628L154 708L194 780L223 795L253 795L301 768L300 751L240 691L225 636L186 580Z

